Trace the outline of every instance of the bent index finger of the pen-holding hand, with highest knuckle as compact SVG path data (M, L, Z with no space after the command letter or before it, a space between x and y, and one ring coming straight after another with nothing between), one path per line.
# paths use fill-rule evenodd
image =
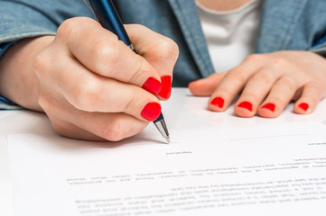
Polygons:
M161 91L160 76L154 67L94 20L70 19L61 24L57 38L56 42L66 46L67 52L92 72L142 86L152 94Z

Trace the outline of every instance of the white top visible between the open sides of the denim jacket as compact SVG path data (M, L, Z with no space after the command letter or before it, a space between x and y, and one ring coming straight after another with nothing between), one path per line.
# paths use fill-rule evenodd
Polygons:
M252 0L238 9L218 12L196 1L210 58L217 73L238 66L255 52L261 0Z

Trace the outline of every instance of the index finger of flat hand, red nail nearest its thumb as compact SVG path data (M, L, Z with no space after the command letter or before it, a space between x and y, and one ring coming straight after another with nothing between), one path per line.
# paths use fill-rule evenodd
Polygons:
M224 111L236 95L246 85L247 80L265 64L262 55L251 55L240 65L229 70L219 86L210 95L209 108L212 111Z

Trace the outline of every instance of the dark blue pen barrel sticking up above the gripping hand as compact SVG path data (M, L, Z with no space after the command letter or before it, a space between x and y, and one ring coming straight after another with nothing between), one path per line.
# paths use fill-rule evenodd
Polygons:
M122 40L128 47L131 46L131 41L113 2L111 0L89 0L89 4L102 27L116 34L119 40Z

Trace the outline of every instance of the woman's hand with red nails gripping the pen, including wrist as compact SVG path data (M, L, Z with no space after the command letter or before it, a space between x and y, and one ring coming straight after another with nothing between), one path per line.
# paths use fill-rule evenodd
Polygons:
M19 68L28 67L24 72L28 81L20 82L20 90L7 85L1 93L46 112L53 128L70 138L119 140L133 136L159 116L159 99L170 97L178 48L144 26L126 25L126 31L138 54L88 18L65 21L55 38L25 42L25 53L17 44L16 52L11 53L20 63L16 71L11 68L16 77L5 73L2 78L18 80ZM23 63L17 60L27 53L34 58ZM36 99L22 98L23 91L33 92L30 95Z

